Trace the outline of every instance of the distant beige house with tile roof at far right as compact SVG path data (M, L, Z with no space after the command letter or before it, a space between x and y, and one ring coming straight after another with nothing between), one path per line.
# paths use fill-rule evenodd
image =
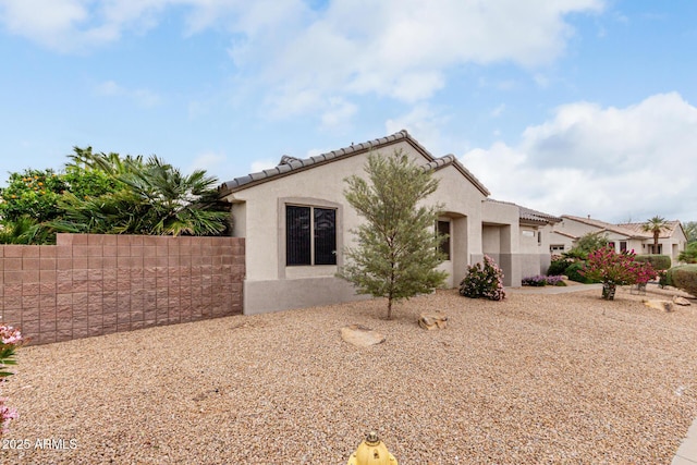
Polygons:
M653 252L653 234L644 231L645 223L613 224L590 217L562 215L562 221L554 225L550 253L568 252L580 236L594 233L607 236L609 245L615 252L634 250L637 255L663 254L676 262L677 256L685 249L687 236L680 221L668 221L668 228L659 236L658 250Z

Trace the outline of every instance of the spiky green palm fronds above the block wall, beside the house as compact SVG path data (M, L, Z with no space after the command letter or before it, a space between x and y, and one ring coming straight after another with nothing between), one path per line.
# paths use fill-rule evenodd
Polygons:
M122 161L118 155L98 155L98 160L82 155L87 155L83 163L97 161L91 169L111 170L123 188L85 198L63 195L59 204L65 215L50 223L59 232L221 235L229 228L230 212L218 199L217 180L205 171L183 175L155 156L140 162L139 158Z

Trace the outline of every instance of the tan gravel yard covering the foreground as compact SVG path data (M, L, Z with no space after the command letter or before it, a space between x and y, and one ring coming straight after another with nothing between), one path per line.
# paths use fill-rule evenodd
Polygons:
M392 321L375 299L23 347L0 462L345 464L375 429L404 465L668 464L697 417L697 301L641 298L439 291Z

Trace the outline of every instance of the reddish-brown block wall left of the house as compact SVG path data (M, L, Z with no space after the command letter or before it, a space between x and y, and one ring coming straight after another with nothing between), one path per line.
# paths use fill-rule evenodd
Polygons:
M58 234L0 245L0 321L32 344L242 314L241 237Z

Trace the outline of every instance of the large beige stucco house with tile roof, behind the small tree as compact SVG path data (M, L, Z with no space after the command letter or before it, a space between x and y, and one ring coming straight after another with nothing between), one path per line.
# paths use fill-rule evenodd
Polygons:
M245 237L245 314L360 298L335 277L344 247L355 241L351 230L362 221L345 201L344 179L365 175L369 152L394 150L440 181L427 201L443 205L435 228L450 235L443 246L448 259L439 267L449 274L447 286L456 286L484 254L498 259L505 285L546 269L549 242L542 230L551 231L560 219L489 200L489 191L453 155L435 158L401 131L307 159L283 156L276 168L221 184L221 197L232 204L233 235Z

